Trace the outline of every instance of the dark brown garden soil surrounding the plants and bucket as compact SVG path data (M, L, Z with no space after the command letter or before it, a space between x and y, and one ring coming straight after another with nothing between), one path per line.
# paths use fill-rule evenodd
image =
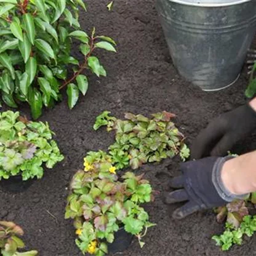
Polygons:
M65 160L44 178L22 194L1 193L0 218L13 220L25 229L25 241L30 249L38 249L41 256L82 255L74 244L76 238L72 221L64 220L68 184L74 172L82 167L87 151L106 150L113 135L105 129L92 129L95 117L110 110L122 117L126 111L142 114L167 110L177 114L177 125L191 143L199 130L224 111L245 102L246 70L236 84L215 93L202 92L184 81L172 65L166 41L158 21L153 0L116 0L113 12L106 10L106 2L88 0L89 11L81 15L84 29L94 25L99 34L106 34L118 42L118 54L98 50L108 71L106 78L90 77L86 97L74 110L68 110L66 98L54 110L44 111L42 121L48 121ZM78 54L78 50L74 49ZM29 116L27 107L21 112ZM254 149L256 137L247 138L233 152ZM155 190L167 188L169 177L178 174L180 159L160 165L144 166ZM182 221L173 220L172 210L161 195L146 206L151 221L158 225L148 231L146 246L141 250L135 241L126 256L201 256L256 255L255 238L247 239L241 247L223 253L210 238L223 226L215 221L212 211L200 212Z

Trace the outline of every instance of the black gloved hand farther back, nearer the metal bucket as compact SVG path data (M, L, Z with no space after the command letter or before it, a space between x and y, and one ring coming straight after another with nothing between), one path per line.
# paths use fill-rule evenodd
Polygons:
M191 159L225 156L236 142L256 129L256 112L249 104L227 112L210 122L191 146Z

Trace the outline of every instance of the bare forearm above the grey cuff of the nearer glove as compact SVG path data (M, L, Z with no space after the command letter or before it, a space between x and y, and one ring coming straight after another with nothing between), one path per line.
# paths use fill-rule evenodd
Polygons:
M255 192L256 151L226 161L222 168L222 181L233 194Z

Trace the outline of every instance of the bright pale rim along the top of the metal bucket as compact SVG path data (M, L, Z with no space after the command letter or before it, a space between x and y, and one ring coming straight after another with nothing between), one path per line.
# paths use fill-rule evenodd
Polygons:
M236 4L244 4L245 2L250 2L252 0L233 0L232 2L215 2L214 0L208 0L208 2L202 2L200 0L196 2L191 2L191 0L169 0L171 2L177 2L177 4L183 4L186 6L197 6L197 7L225 7L234 6ZM207 0L206 0L207 1Z

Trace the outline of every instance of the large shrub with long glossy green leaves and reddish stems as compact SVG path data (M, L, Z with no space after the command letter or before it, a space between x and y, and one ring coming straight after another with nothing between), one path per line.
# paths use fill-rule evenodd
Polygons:
M106 76L94 51L116 52L115 42L96 36L95 29L90 36L81 30L79 7L86 10L83 0L0 0L0 90L8 106L28 102L36 119L43 105L50 108L62 99L60 89L66 88L73 108L87 92L84 70ZM71 55L74 41L80 43L81 63Z

